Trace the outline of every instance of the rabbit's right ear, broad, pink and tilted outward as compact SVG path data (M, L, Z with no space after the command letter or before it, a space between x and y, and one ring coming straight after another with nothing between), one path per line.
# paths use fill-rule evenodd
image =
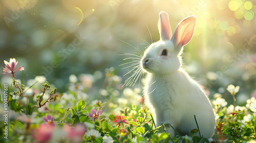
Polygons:
M175 51L178 54L181 48L186 45L193 37L196 26L196 17L189 16L183 19L174 31L173 37L170 39L175 45Z

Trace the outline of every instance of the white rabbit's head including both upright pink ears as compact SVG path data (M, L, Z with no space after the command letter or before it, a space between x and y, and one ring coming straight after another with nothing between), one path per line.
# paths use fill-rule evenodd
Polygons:
M180 53L194 34L196 17L183 19L172 34L168 14L162 11L159 16L160 41L146 49L141 59L141 67L147 73L165 75L180 68Z

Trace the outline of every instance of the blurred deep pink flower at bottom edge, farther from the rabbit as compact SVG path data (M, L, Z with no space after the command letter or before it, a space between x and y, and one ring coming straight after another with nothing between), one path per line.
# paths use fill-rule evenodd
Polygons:
M35 132L32 132L32 137L38 142L46 142L52 138L52 133L54 131L54 126L49 126L47 124L41 124Z

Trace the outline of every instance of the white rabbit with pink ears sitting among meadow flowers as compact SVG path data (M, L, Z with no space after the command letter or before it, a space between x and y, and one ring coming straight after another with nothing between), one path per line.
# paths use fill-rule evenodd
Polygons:
M181 69L180 53L194 34L196 17L183 19L172 35L168 14L159 15L160 41L151 44L140 61L147 73L145 102L154 111L157 127L169 123L179 134L190 135L197 129L196 115L201 135L210 138L215 130L214 111L199 84ZM172 128L168 132L177 135Z

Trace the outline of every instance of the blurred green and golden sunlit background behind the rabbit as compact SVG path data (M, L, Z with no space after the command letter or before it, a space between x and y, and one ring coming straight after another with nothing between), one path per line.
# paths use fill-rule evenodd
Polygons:
M159 40L160 11L169 14L172 31L186 16L197 17L183 67L210 96L220 92L231 98L225 88L234 84L241 102L256 97L255 0L1 0L0 65L16 58L25 67L25 80L45 76L59 92L67 90L71 74L101 72L102 82L94 86L102 86L109 67L124 83L132 67L120 70L127 58L120 54ZM1 83L7 77L2 75Z

